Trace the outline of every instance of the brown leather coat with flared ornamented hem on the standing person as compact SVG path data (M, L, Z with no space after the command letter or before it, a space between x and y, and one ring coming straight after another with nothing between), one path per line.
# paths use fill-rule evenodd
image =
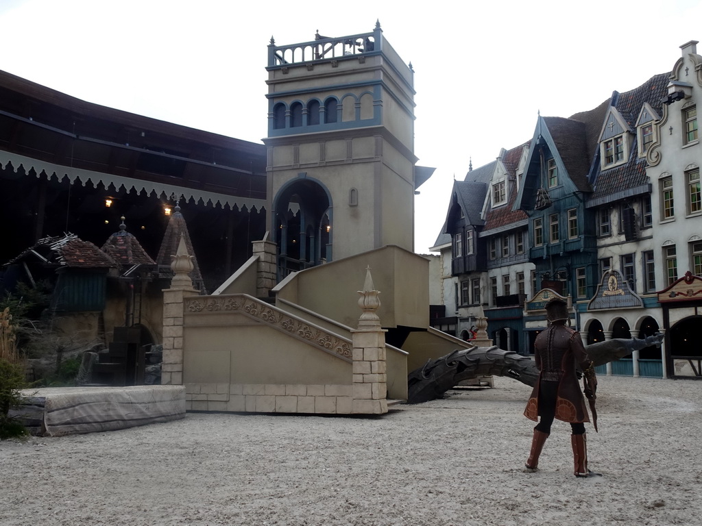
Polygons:
M538 421L538 389L541 377L545 375L544 368L548 368L549 357L562 356L557 367L560 370L560 379L555 417L563 422L590 422L585 397L576 376L576 365L580 365L583 370L590 365L580 333L565 325L550 325L536 337L535 347L536 367L540 372L527 402L527 408L524 410L524 416Z

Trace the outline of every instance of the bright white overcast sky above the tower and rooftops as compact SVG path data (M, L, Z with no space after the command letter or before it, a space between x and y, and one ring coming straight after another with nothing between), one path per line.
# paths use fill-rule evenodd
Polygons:
M568 117L669 72L702 41L702 1L0 0L0 69L67 95L261 142L267 46L370 32L414 69L415 154L435 167L415 251L442 229L453 180ZM702 53L702 46L698 48Z

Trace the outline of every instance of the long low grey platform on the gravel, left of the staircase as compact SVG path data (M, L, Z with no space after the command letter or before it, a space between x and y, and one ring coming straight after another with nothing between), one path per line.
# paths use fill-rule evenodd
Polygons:
M26 389L14 411L33 435L113 431L185 417L185 387L45 387Z

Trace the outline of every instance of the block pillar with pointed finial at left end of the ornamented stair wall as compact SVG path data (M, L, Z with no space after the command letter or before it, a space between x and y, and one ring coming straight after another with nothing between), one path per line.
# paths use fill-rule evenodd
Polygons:
M178 250L171 255L173 279L164 290L164 354L161 363L161 384L183 385L183 298L197 295L190 271L192 256L187 253L185 237L180 236Z

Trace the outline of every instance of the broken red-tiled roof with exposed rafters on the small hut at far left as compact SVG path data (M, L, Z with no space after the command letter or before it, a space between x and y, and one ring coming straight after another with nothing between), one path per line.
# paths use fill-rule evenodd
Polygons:
M72 269L110 269L117 262L89 241L83 241L75 234L42 238L37 243L11 259L7 264L23 259L35 259L48 265Z

